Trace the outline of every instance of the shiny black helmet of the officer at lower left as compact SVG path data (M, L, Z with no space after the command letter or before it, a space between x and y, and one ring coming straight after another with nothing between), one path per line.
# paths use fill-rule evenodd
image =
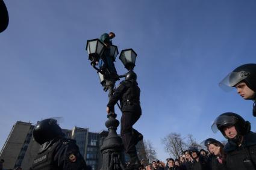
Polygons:
M40 145L61 135L63 135L62 130L58 126L57 120L53 118L39 121L33 130L33 138Z

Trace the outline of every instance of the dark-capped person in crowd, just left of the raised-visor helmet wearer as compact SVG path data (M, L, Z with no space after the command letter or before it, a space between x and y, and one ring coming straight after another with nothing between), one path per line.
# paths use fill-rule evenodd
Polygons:
M193 158L191 170L207 170L207 163L204 162L197 148L189 148L189 154Z

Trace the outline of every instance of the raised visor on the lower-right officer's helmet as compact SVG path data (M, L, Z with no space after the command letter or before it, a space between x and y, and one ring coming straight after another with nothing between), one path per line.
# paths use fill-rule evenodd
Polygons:
M219 128L234 126L237 123L237 118L230 115L220 115L216 118L214 123L211 125L213 133L217 133ZM219 128L218 128L219 127Z

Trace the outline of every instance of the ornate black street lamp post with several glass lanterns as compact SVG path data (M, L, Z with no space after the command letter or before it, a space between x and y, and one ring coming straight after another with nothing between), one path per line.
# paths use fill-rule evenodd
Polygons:
M89 60L92 61L91 65L98 71L99 80L101 85L104 85L104 76L108 76L103 70L96 67L96 61L99 61L105 50L105 45L98 39L88 40L86 50L89 53ZM117 46L110 46L110 57L113 57L115 61L118 55ZM128 71L133 71L136 62L136 52L133 49L125 49L120 53L119 59ZM125 77L125 74L119 77ZM117 103L118 105L118 103ZM119 105L118 105L119 106ZM120 106L119 106L120 108ZM104 139L101 147L101 153L103 154L101 170L125 170L124 158L122 157L123 145L122 139L117 135L116 129L119 126L119 121L116 120L116 114L113 112L108 114L108 120L105 122L105 126L108 128L108 136Z

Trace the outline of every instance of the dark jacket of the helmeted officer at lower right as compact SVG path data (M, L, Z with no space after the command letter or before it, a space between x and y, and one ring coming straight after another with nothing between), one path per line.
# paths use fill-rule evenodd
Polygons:
M256 133L249 132L243 136L243 142L240 147L234 142L228 141L224 151L226 154L226 169L256 169Z

